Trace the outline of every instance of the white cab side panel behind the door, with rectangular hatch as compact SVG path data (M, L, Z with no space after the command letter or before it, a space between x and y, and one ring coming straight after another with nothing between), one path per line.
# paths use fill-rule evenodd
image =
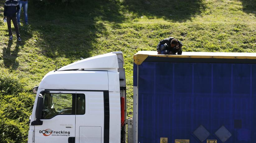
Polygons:
M104 142L104 96L103 92L76 92L76 143ZM84 108L83 108L84 107ZM108 108L109 110L109 108ZM108 111L109 113L109 111ZM105 114L106 119L106 114ZM109 123L109 115L108 115Z

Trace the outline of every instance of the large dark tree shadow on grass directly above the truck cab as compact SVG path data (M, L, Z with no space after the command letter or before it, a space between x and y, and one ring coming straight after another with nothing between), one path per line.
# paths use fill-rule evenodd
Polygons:
M73 3L66 9L56 6L56 9L44 11L32 7L30 10L33 15L30 19L33 20L30 20L30 26L40 33L41 39L37 44L44 55L53 59L87 58L99 48L95 46L95 43L100 43L97 38L107 35L104 23L121 23L125 20L118 12L119 8L118 3L112 0L84 0L79 5Z

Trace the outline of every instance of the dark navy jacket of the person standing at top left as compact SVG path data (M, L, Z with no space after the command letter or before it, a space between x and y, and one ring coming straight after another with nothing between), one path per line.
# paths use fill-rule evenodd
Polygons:
M16 13L20 10L18 0L6 0L4 3L3 15L7 17L16 17Z

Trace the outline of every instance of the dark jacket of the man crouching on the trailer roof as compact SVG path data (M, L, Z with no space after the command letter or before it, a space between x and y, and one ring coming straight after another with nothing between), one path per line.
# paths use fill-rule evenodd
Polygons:
M176 48L174 48L174 47L173 47L173 48L171 47L171 41L172 41L173 39L174 39L173 37L169 37L169 38L166 38L166 39L160 41L160 42L158 43L158 45L156 46L156 50L157 50L157 51L160 51L159 47L160 47L162 44L165 44L165 43L166 43L166 50L171 51L172 54L176 54L177 52L178 52L178 54L182 54L182 46L183 46L183 45L182 45L182 43L181 43L180 41L178 41L178 46L179 46L178 49L176 49Z

